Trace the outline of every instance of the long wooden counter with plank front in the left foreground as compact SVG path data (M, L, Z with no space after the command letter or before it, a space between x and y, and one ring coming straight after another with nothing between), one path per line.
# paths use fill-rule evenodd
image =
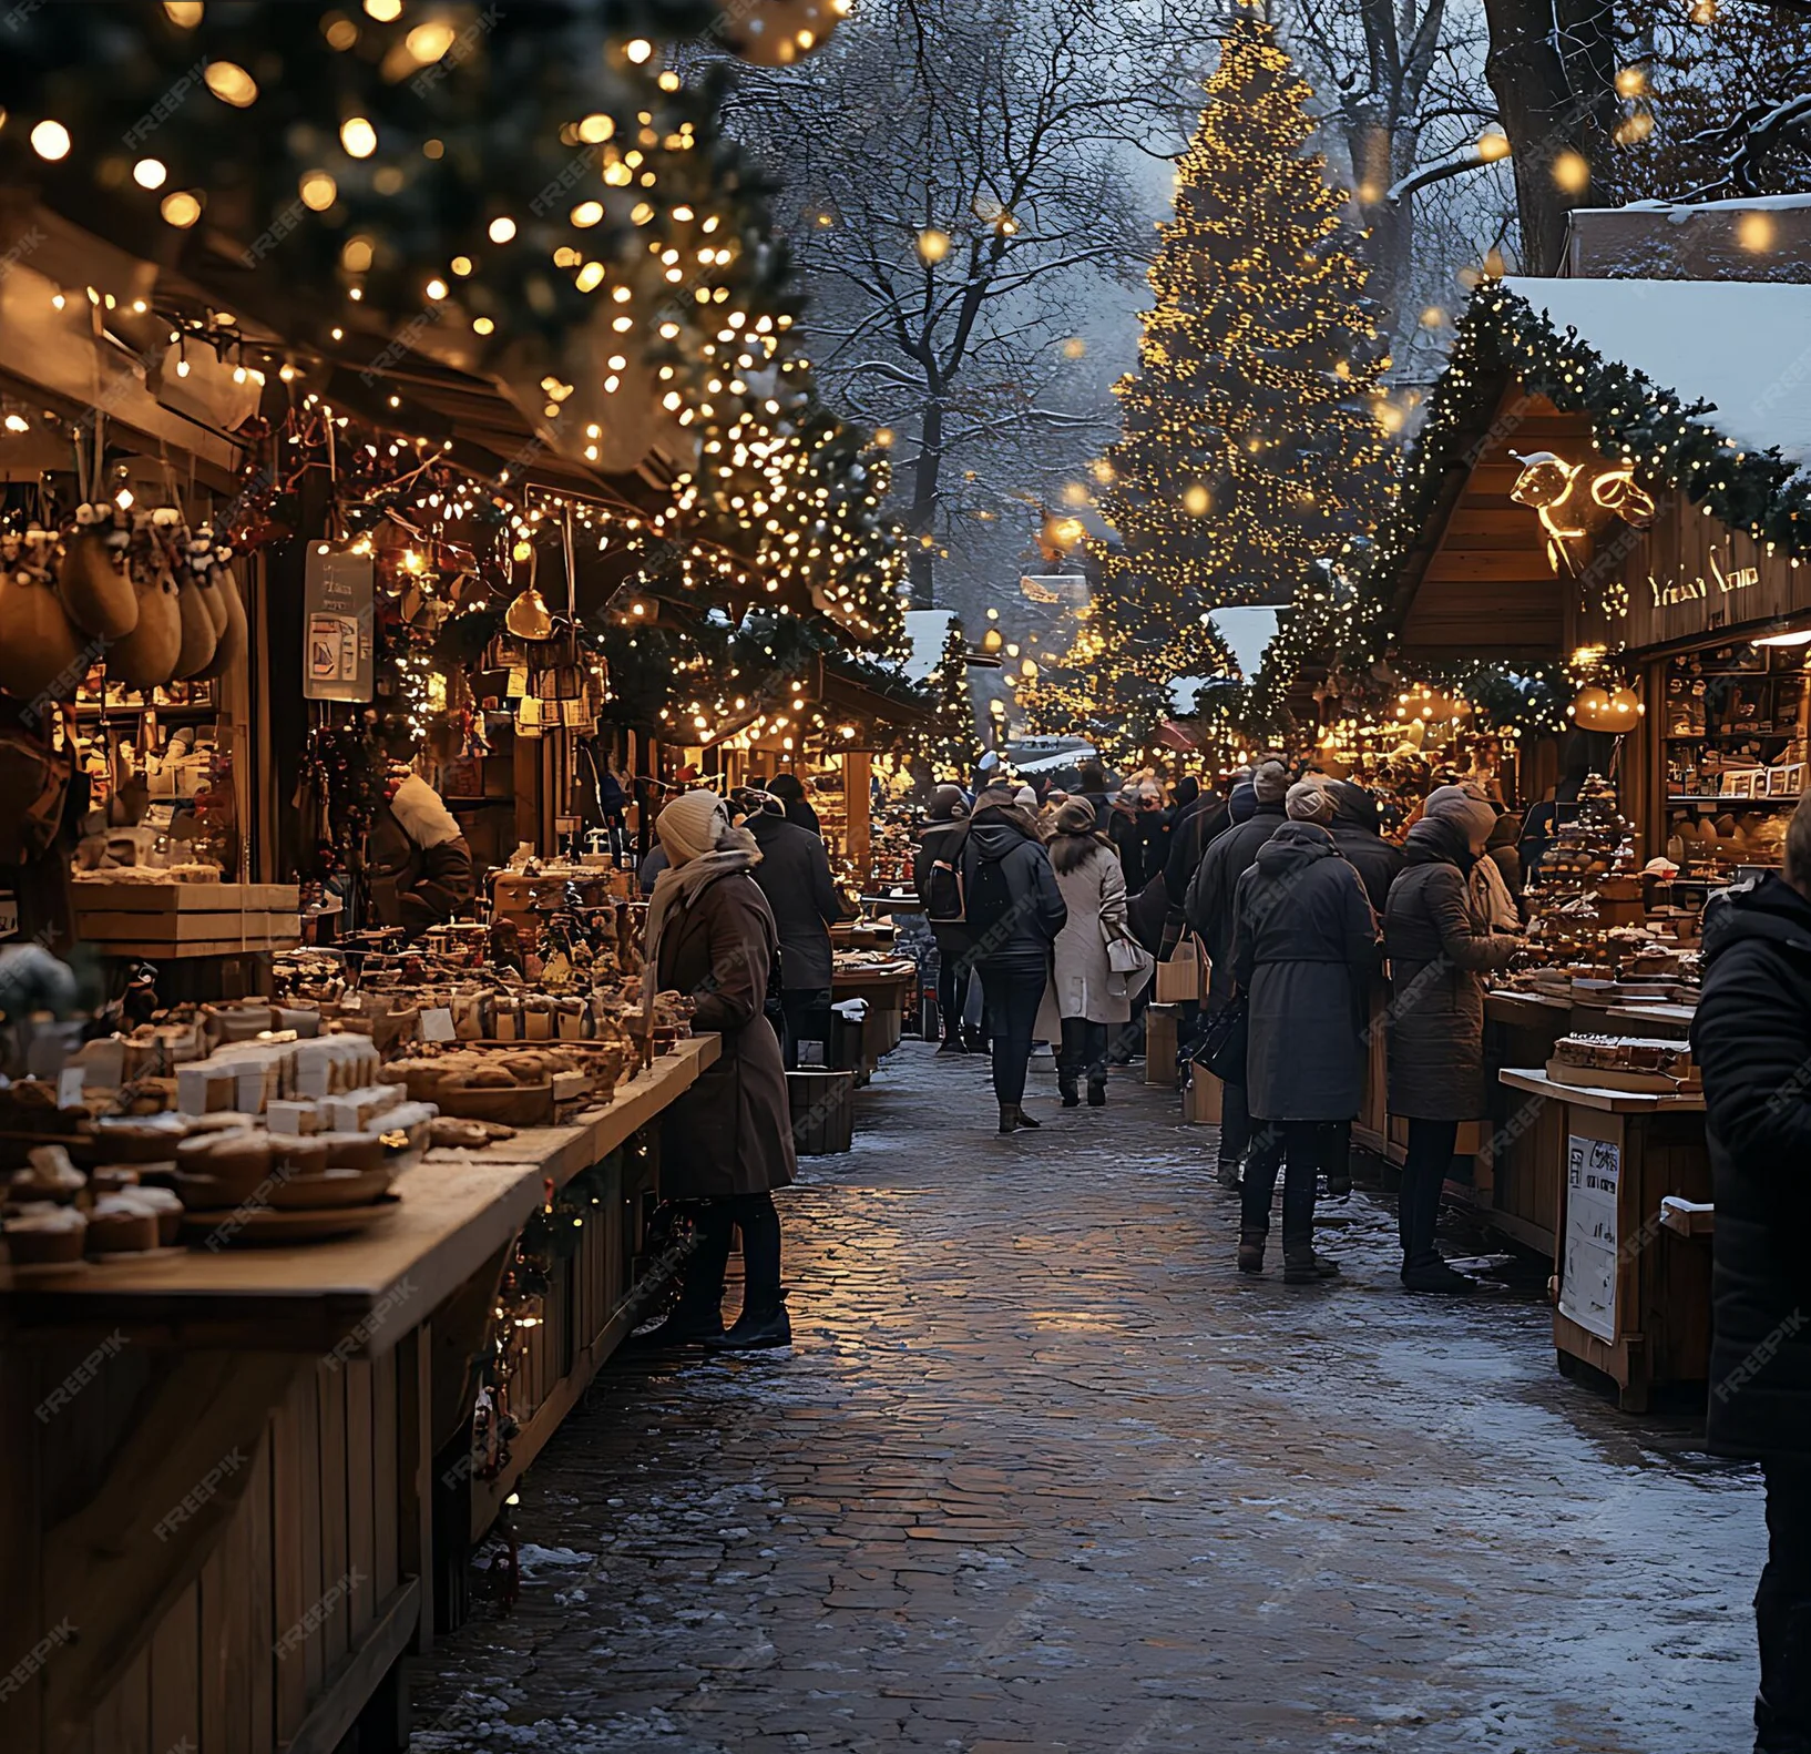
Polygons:
M717 1051L681 1042L569 1127L429 1152L369 1232L0 1274L0 1747L402 1749L400 1658L456 1622L476 1506L507 1489L471 1479L471 1384L520 1229L607 1165L507 1479L632 1325L641 1129Z

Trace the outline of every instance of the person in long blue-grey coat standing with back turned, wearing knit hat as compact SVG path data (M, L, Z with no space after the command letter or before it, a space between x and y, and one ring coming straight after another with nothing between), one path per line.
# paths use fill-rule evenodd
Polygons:
M1244 1174L1239 1270L1264 1270L1270 1203L1282 1189L1282 1267L1289 1285L1331 1279L1315 1254L1315 1183L1329 1129L1349 1123L1364 1096L1360 1046L1365 977L1376 962L1376 917L1333 835L1315 785L1289 792L1289 817L1239 879L1233 980L1248 995L1246 1105L1251 1160Z

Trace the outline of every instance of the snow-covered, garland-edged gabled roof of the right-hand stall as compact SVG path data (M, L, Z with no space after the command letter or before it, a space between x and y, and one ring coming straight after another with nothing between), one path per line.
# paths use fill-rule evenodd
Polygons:
M1367 667L1391 647L1442 661L1559 654L1572 587L1554 576L1536 513L1510 498L1539 451L1646 453L1637 469L1652 493L1679 491L1733 529L1802 551L1806 335L1811 286L1487 281L1340 611L1340 660Z

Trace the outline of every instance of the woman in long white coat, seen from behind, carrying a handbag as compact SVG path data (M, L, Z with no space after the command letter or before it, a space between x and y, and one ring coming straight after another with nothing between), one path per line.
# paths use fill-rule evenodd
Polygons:
M1068 922L1056 935L1056 966L1038 1015L1038 1035L1061 1040L1056 1082L1063 1107L1081 1102L1081 1073L1088 1078L1088 1107L1107 1102L1107 1033L1132 1018L1126 977L1107 957L1108 939L1130 937L1126 879L1112 841L1096 826L1094 806L1072 799L1056 812L1049 844L1056 886L1063 891Z

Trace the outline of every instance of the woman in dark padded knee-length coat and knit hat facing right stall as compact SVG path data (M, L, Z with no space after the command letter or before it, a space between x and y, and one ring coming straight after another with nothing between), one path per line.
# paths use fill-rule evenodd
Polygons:
M1434 1247L1440 1192L1460 1122L1485 1113L1483 975L1505 968L1523 939L1492 933L1471 902L1496 806L1476 786L1440 786L1404 843L1407 868L1389 886L1384 948L1389 1004L1389 1113L1409 1123L1396 1227L1411 1292L1465 1294L1476 1281Z

